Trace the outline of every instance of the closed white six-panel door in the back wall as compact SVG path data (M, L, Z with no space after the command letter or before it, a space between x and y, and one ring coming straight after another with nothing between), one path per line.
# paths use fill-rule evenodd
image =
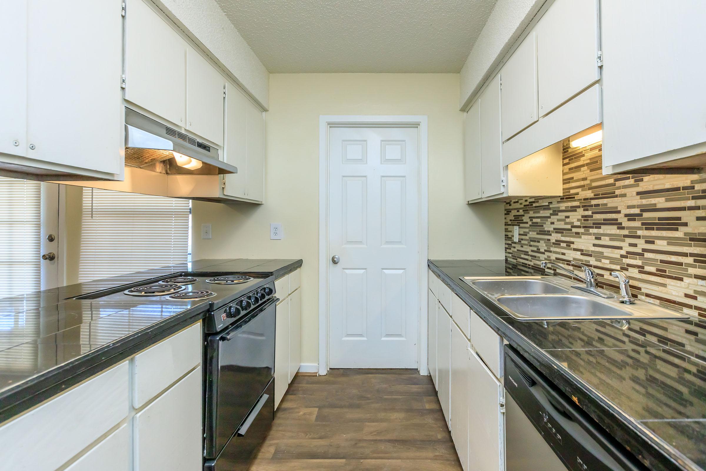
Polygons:
M332 368L417 368L419 130L331 127Z

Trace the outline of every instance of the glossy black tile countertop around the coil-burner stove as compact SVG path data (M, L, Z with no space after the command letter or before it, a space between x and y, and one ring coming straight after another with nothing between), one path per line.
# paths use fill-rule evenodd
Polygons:
M208 258L0 299L0 422L197 322L208 304L71 298L172 273L277 279L300 266L301 260Z

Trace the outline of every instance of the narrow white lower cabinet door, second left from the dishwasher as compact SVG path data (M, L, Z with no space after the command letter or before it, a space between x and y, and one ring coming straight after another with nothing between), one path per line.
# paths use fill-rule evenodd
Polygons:
M451 323L451 438L464 471L468 470L469 342Z

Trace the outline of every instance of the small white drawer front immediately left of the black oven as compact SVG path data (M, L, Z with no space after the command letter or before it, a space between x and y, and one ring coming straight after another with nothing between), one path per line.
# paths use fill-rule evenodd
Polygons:
M133 407L139 409L170 384L201 364L201 323L162 340L133 362Z

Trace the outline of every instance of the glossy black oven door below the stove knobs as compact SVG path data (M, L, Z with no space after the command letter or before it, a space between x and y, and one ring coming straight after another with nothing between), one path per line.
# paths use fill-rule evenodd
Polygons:
M204 457L216 458L275 371L277 298L206 342Z

